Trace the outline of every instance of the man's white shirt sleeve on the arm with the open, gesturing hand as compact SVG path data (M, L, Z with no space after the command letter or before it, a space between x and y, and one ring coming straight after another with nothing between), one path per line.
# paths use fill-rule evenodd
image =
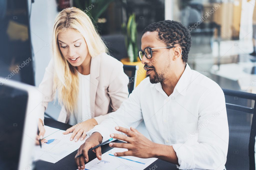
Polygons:
M223 91L205 92L199 101L198 129L188 140L173 145L179 169L224 169L228 152L228 120Z

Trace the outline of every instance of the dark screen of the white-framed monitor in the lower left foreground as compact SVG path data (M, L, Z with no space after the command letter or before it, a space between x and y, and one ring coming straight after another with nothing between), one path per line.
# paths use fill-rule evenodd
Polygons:
M27 91L0 86L0 169L18 169Z

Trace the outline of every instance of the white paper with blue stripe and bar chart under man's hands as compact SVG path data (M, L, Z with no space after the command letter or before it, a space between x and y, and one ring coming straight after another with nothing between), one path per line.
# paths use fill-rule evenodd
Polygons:
M108 170L139 170L145 169L157 158L138 158L132 156L125 156L125 157L116 157L114 156L115 152L124 152L127 149L124 148L113 148L108 152L101 155L101 161L95 158L94 160L85 164L85 169L87 170L101 170L101 169L108 169ZM90 158L89 158L90 159Z

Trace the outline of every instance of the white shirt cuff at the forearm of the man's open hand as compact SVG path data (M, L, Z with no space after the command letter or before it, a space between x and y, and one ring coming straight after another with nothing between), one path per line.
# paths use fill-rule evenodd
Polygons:
M193 148L185 144L174 144L172 146L178 157L179 165L177 165L177 168L195 169Z

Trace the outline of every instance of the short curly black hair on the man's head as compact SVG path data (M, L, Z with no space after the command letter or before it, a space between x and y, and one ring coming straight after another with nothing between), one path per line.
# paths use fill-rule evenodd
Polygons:
M188 29L180 22L173 20L164 20L149 24L144 30L145 32L158 32L158 39L166 44L173 46L179 44L182 49L182 61L188 61L188 52L191 47L191 35Z

